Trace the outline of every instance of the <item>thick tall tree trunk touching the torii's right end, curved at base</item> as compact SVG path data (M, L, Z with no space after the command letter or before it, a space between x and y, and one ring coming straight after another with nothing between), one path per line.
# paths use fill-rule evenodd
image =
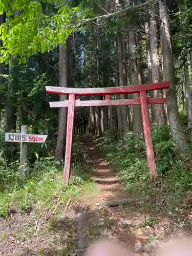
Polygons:
M179 111L177 105L177 95L175 89L175 73L174 60L172 53L172 44L170 40L170 30L168 24L167 6L165 0L158 0L160 12L160 33L162 40L162 55L163 55L163 79L170 81L170 88L166 92L167 96L167 113L170 126L170 132L178 145L181 153L188 148L188 142L182 129L179 118Z

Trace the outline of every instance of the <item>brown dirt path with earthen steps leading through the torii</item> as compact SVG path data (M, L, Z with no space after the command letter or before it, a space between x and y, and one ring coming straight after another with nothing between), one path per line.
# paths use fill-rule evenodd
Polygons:
M83 198L82 205L86 212L86 238L88 242L100 237L110 237L146 253L146 237L139 227L140 216L127 213L126 207L103 207L102 201L118 200L129 197L119 184L118 175L110 168L102 154L92 142L84 143L90 153L89 163L94 166L92 179L96 181L97 195ZM145 251L145 252L143 252ZM146 254L147 255L147 254Z

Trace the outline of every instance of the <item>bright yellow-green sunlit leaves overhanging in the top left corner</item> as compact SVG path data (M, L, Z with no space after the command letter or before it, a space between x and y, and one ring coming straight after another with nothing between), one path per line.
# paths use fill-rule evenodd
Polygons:
M46 1L44 1L46 2ZM38 1L4 1L0 3L0 13L6 12L7 20L0 27L3 47L1 62L11 65L12 58L19 63L38 52L50 52L58 44L65 45L68 36L74 31L74 19L92 16L91 7L80 4L74 8L59 4L55 0L47 1L53 5L46 12L43 3Z

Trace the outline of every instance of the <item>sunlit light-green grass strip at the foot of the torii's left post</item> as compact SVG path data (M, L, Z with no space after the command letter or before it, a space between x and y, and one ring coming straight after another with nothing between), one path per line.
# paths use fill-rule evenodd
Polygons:
M84 170L85 166L75 166L72 173L77 168ZM54 209L57 200L59 204L65 204L69 198L76 200L82 193L94 192L94 182L78 176L67 187L63 187L62 176L61 169L50 165L48 169L42 169L42 174L38 173L27 180L24 187L17 183L4 189L0 194L0 216L8 217L11 212L30 212L38 208Z

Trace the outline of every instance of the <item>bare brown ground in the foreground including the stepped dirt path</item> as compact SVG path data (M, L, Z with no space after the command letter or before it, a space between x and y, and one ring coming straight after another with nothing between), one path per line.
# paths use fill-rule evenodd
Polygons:
M119 182L118 173L110 162L104 160L94 142L82 143L89 153L92 165L91 182L95 188L82 190L80 197L68 199L59 211L32 211L25 214L13 212L8 219L0 219L0 255L76 255L77 216L84 213L83 240L85 247L101 237L108 237L130 246L136 255L151 255L161 239L183 233L184 222L175 221L169 214L151 217L143 211L146 202L137 200L129 205L109 207L103 201L133 198L125 193ZM92 183L91 183L92 184ZM149 199L148 208L152 201ZM160 202L160 204L162 204ZM158 206L159 211L161 211ZM178 224L179 223L179 224Z

